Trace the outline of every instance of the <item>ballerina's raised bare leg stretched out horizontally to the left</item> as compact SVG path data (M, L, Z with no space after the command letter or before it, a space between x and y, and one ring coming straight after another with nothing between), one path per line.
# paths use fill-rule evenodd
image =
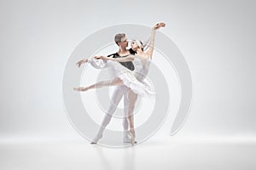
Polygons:
M87 91L87 90L90 90L91 88L103 88L106 86L120 86L120 85L124 85L124 82L121 79L119 79L118 77L116 77L113 80L96 82L95 84L92 84L88 87L73 88L73 90Z

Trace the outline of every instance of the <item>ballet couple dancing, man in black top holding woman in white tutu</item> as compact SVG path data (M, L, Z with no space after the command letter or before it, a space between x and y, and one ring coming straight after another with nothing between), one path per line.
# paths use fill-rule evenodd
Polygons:
M149 39L148 50L144 51L145 45L138 40L131 41L131 48L124 33L115 35L114 41L119 46L119 51L108 56L95 56L89 59L81 59L77 63L80 67L83 63L90 63L96 69L109 68L109 73L114 77L113 80L96 82L88 87L73 88L75 91L87 91L91 88L102 88L116 86L112 95L112 102L107 114L103 117L102 125L96 137L90 144L96 144L102 139L102 133L108 126L114 111L116 111L119 101L124 97L125 118L123 120L124 143L136 144L133 111L137 102L137 95L154 95L154 90L144 82L148 74L149 65L154 52L155 31L160 27L165 27L165 23L158 23L152 27ZM128 130L130 127L130 130Z

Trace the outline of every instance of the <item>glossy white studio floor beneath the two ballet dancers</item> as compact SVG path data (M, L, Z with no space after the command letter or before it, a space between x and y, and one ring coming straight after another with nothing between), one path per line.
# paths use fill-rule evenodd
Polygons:
M86 140L3 140L0 144L3 170L254 170L255 157L255 141L236 139L167 137L119 149Z

